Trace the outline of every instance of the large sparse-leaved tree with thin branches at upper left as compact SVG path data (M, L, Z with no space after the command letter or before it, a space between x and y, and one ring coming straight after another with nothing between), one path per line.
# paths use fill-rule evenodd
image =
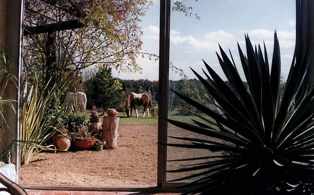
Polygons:
M142 34L139 22L149 0L27 0L24 76L43 84L75 77L91 65L137 71ZM53 82L52 82L53 83Z

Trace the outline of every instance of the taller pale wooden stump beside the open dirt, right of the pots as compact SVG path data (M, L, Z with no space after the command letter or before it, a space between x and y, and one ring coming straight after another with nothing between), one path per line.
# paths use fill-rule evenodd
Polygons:
M102 140L108 149L116 149L118 145L119 117L104 117Z

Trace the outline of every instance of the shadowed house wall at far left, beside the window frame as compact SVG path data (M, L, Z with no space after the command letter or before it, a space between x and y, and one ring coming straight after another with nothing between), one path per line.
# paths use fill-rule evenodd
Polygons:
M21 56L21 10L23 0L1 0L0 1L0 50L4 51L11 61L9 71L19 77L20 73L20 56ZM0 64L2 65L2 64ZM18 88L14 84L8 86L7 92L3 99L18 100ZM18 103L16 110L18 111ZM0 152L2 152L13 138L16 138L18 131L18 112L6 108L4 115L9 128L5 131L0 130ZM7 125L4 125L7 126ZM9 132L10 131L10 132ZM12 160L18 161L12 155Z

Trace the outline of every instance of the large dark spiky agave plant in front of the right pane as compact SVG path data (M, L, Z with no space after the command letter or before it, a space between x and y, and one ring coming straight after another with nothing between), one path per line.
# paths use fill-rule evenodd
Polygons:
M193 182L184 185L194 187L188 193L312 194L314 89L309 88L304 79L310 52L305 48L294 54L280 96L280 48L276 32L271 69L265 44L263 54L260 45L253 48L247 35L245 39L247 55L239 44L238 49L248 86L244 84L231 53L229 58L220 46L218 61L230 85L205 61L209 72L203 70L206 78L192 69L213 97L211 103L223 114L174 91L213 121L195 113L202 119L194 120L195 125L168 120L177 127L221 141L175 137L185 143L169 146L219 151L225 155L186 159L203 159L205 162L169 172L191 171L189 176L173 180L194 178Z

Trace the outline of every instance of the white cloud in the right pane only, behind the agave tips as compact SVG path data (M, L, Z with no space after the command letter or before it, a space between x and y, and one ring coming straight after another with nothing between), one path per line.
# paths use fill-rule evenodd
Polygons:
M179 68L183 68L185 73L189 77L195 77L193 73L189 70L189 66L194 67L198 72L201 72L201 67L198 62L201 61L201 58L205 58L205 60L211 64L211 66L219 73L219 75L223 75L221 68L218 65L217 57L215 56L215 50L218 50L218 43L227 51L228 48L231 49L233 54L234 61L241 72L241 75L244 76L244 73L241 68L240 59L238 57L238 49L237 49L237 41L239 41L240 46L245 52L245 41L244 34L248 33L253 44L263 44L267 47L269 58L272 57L272 49L273 49L273 39L274 39L274 31L269 31L266 29L253 29L253 30L240 30L236 32L225 32L222 30L212 31L203 33L202 36L195 35L183 35L178 31L174 31L175 33L171 34L171 58L175 65ZM282 71L283 73L287 73L289 70L289 66L292 59L294 44L295 44L295 31L277 31L280 49L281 49L281 62L282 62ZM182 56L181 58L178 58ZM187 58L185 56L189 56L188 62L185 62ZM180 59L178 61L177 59ZM181 61L182 60L182 61ZM199 60L194 61L193 60ZM173 78L176 76L172 75ZM222 76L225 78L224 76Z

